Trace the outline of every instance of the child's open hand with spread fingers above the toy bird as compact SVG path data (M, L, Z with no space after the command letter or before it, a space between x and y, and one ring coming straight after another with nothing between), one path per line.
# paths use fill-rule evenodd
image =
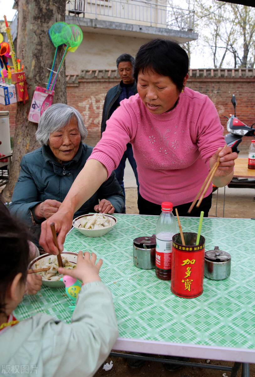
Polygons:
M83 284L91 283L94 281L101 281L99 277L99 270L103 264L102 259L96 264L97 256L95 253L90 253L88 251L84 252L84 256L82 251L79 251L77 256L77 266L72 270L69 268L62 268L59 267L58 272L60 274L69 275L74 277L75 279L82 280Z

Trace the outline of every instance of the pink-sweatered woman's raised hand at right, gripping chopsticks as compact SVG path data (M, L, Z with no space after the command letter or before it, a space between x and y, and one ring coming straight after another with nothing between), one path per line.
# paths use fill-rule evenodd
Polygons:
M232 152L231 147L218 148L218 150L212 155L209 160L210 169L217 162L218 157L220 157L219 166L214 174L212 183L217 187L223 187L228 182L231 181L234 174L234 160L237 158L238 154Z

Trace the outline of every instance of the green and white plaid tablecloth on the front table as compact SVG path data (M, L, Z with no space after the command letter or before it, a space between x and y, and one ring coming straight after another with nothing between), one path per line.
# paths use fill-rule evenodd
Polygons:
M100 277L112 292L119 337L241 349L249 353L249 360L243 361L254 362L255 220L203 219L205 251L217 245L230 253L231 275L221 281L205 278L203 294L184 299L175 296L170 281L159 280L155 270L141 270L133 264L134 238L155 234L158 217L114 216L117 224L103 237L88 238L73 229L66 237L64 250L94 251L97 258L103 259ZM197 233L198 224L199 218L181 218L184 232ZM43 287L36 296L24 298L15 316L23 319L43 311L69 322L69 304L64 288ZM228 356L225 360L231 359Z

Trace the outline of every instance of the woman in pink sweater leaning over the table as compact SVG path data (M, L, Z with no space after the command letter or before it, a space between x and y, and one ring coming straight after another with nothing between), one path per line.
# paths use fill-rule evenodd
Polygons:
M225 146L219 115L206 95L186 86L188 55L178 43L156 39L139 49L134 68L138 94L123 100L106 123L102 139L77 176L58 212L42 224L40 244L58 253L51 235L54 221L63 250L73 213L90 198L118 166L126 144L131 143L137 162L140 214L159 215L161 202L170 201L180 216L199 191L209 169L220 156L213 183L231 181L237 153ZM212 186L199 210L208 216ZM100 209L100 208L99 208Z

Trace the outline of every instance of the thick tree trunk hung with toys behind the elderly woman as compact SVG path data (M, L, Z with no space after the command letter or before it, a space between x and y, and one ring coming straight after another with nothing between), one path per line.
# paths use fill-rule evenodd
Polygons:
M55 54L55 47L48 31L58 21L65 21L65 0L18 0L17 58L24 64L29 100L17 103L16 128L9 181L3 190L3 198L10 200L20 172L20 160L26 153L39 147L35 139L37 123L28 121L33 92L36 86L47 86ZM58 69L64 47L58 48L54 70ZM54 74L53 74L54 77ZM53 103L67 103L65 65L55 86Z

